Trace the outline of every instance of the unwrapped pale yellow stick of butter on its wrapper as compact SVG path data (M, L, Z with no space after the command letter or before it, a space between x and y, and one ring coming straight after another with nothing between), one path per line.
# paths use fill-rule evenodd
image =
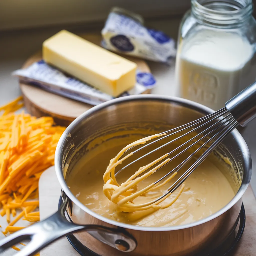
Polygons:
M136 63L66 30L44 41L43 59L113 97L136 82Z

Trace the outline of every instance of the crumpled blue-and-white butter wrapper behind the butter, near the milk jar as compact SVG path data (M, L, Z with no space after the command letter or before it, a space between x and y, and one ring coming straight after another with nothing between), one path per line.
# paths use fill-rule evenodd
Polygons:
M165 63L176 56L174 39L144 27L142 18L121 8L112 9L101 35L101 45L114 52Z

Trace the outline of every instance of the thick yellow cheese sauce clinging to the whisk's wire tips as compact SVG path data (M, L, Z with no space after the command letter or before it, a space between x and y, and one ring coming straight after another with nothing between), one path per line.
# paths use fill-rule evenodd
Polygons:
M167 158L163 162L159 163L160 161L162 161L164 158L168 156L168 153L157 158L155 161L140 167L131 177L129 177L121 185L116 181L115 168L119 164L121 164L125 159L133 155L133 153L129 153L123 156L128 150L130 150L134 146L145 144L147 141L163 135L166 135L166 134L154 134L154 135L139 139L137 141L134 141L128 144L127 146L125 146L113 159L110 160L110 163L103 175L103 180L104 180L103 193L110 201L118 205L118 208L120 211L123 211L123 212L146 211L145 214L148 214L148 210L150 210L150 212L154 212L160 208L164 209L174 204L174 202L179 198L182 191L184 190L185 183L181 185L181 188L178 194L176 195L176 197L168 204L161 204L161 203L167 197L169 197L171 193L167 194L166 196L164 196L159 200L154 199L152 201L148 201L142 204L135 204L133 202L133 200L139 196L147 197L148 195L147 193L149 191L159 189L160 187L165 185L167 182L170 182L170 180L172 180L172 178L176 176L177 172L174 172L170 177L167 177L162 183L158 185L151 183L150 185L137 191L137 185L140 182L142 182L144 179L146 179L147 177L155 173L160 167L162 167L163 165L165 165L170 161L170 158ZM150 169L152 166L154 166L157 163L159 163L157 166ZM139 176L140 174L142 175Z

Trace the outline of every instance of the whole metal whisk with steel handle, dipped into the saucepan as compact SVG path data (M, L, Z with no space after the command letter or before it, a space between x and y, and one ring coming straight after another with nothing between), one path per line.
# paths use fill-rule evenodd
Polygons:
M184 124L182 126L176 127L169 131L160 133L159 135L161 135L161 136L159 138L157 138L156 140L154 140L150 143L146 143L144 146L141 146L140 148L135 149L134 151L132 151L131 153L129 153L125 157L123 157L121 160L119 160L119 162L116 162L115 166L112 168L112 171L111 171L112 182L116 182L116 176L119 173L121 173L124 169L126 169L127 167L132 166L137 161L160 150L161 148L163 148L171 143L177 142L178 140L180 140L181 138L184 138L185 136L190 136L191 138L189 138L189 140L185 141L184 143L182 143L181 145L179 145L172 151L168 152L168 154L164 155L163 158L161 158L161 159L159 158L160 160L158 159L159 161L157 161L156 163L158 163L160 161L163 161L163 162L162 162L162 164L158 164L157 168L155 168L154 171L158 171L159 169L161 169L162 167L164 167L165 165L170 163L172 160L174 160L178 156L182 155L185 152L188 152L188 150L190 148L194 149L193 147L197 145L197 149L192 151L192 153L189 153L189 156L186 157L186 159L184 161L182 161L174 169L172 169L166 175L164 175L163 177L158 179L156 182L154 182L154 184L152 184L151 187L149 186L148 189L141 190L141 193L140 193L140 191L137 193L135 190L131 191L130 188L132 188L133 185L135 184L135 182L134 182L135 178L133 178L133 179L130 178L127 180L127 185L125 185L126 188L129 188L131 191L131 193L129 193L129 196L127 196L125 194L127 192L127 191L125 191L125 188L122 191L118 190L117 192L114 191L114 189L113 189L112 193L110 193L108 195L109 199L113 202L116 202L118 205L121 205L124 207L125 207L125 205L128 206L127 204L124 204L124 203L128 202L128 200L124 199L125 197L128 197L128 198L131 197L131 199L133 200L136 197L145 193L146 191L149 191L150 189L154 188L155 185L159 184L165 178L169 177L170 175L172 175L175 172L179 172L179 170L182 169L190 161L190 159L195 157L195 155L198 154L199 152L200 153L202 152L200 154L200 156L196 159L196 161L193 164L191 164L185 170L185 172L167 189L167 192L165 194L154 199L151 202L141 205L141 207L138 207L138 205L136 207L137 207L137 210L147 209L147 208L145 208L146 206L153 205L153 204L156 205L157 202L163 201L166 197L168 197L168 195L170 193L173 193L173 191L176 190L189 177L189 175L204 161L204 159L224 140L224 138L236 126L238 126L239 124L241 126L246 126L253 118L255 118L255 116L256 116L256 82L251 84L249 87L247 87L242 92L237 94L231 100L226 102L225 105L226 106L224 108L222 108L212 114L204 116L204 117L202 117L198 120L195 120L193 122ZM156 142L159 142L159 141L163 140L164 138L169 138L169 137L171 138L171 136L181 133L181 132L182 132L182 135L175 137L174 139L171 139L167 143L165 143L161 146L158 146L157 148L146 153L145 155L135 159L134 161L130 162L129 164L127 164L123 168L121 168L118 172L116 172L116 173L114 172L114 168L118 164L122 163L129 156L135 155L137 152L141 151L142 149L144 149ZM140 144L142 144L142 143L140 143ZM136 146L132 146L128 150L124 151L123 153L128 153L128 151L130 152L130 150L134 149L135 147ZM168 161L164 160L164 158L170 156L174 152L176 152L176 154L173 157L168 158ZM122 154L120 154L120 156ZM150 165L150 167L152 167L152 166L153 165ZM143 167L141 167L141 168L143 168ZM139 174L141 174L141 172ZM151 175L151 174L149 174L149 175ZM148 176L145 175L145 178ZM134 176L134 177L136 177L136 176ZM116 184L118 184L118 183L116 183ZM123 184L121 184L121 186L122 185ZM109 185L109 186L114 187L114 185ZM134 194L134 196L132 196L133 194ZM122 195L122 196L119 197L119 200L117 200L117 197L120 195ZM132 200L130 202L132 202ZM122 204L119 203L121 201L122 201ZM134 206L133 208L136 208L136 207ZM141 209L139 209L139 208L141 208Z

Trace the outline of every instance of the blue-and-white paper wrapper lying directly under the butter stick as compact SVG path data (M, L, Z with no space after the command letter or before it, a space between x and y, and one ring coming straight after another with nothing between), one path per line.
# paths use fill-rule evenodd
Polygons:
M49 66L43 60L34 62L28 68L18 69L12 75L19 77L20 82L94 106L113 99L111 95L64 74L60 70ZM141 72L138 69L136 71L136 80L135 86L131 90L122 93L119 97L141 94L156 85L156 80L151 73Z

